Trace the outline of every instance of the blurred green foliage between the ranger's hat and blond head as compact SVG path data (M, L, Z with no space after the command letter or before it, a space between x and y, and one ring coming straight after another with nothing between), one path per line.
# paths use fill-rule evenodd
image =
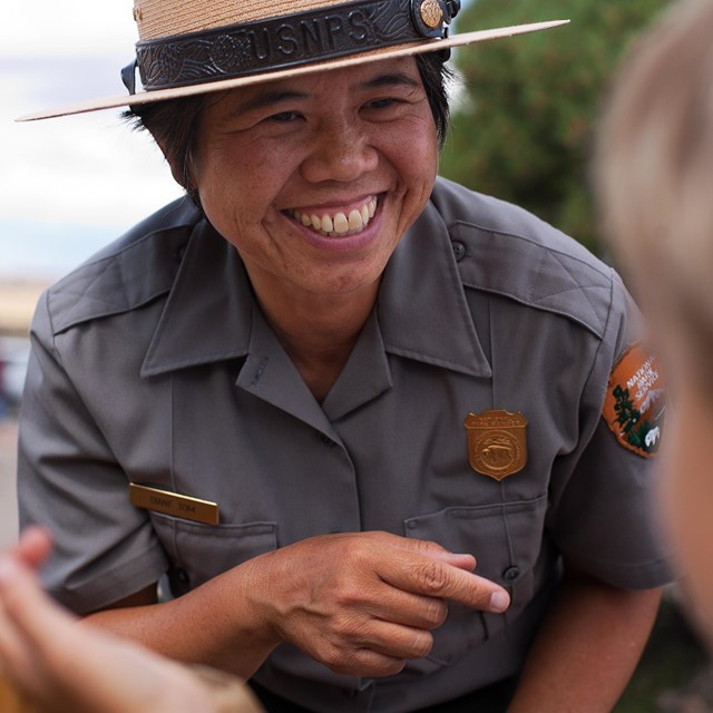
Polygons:
M588 180L596 118L632 39L667 0L475 0L458 31L572 19L458 50L462 101L441 174L511 201L599 252Z

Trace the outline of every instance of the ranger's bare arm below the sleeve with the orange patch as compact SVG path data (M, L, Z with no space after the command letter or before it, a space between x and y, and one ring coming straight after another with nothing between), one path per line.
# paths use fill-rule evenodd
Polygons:
M617 589L568 576L528 655L509 713L608 713L658 611L660 589Z

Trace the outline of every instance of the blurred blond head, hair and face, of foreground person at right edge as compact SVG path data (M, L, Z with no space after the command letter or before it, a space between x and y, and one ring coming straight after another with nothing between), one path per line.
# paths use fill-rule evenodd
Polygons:
M662 521L713 646L713 0L673 6L634 48L596 168L605 228L672 387Z

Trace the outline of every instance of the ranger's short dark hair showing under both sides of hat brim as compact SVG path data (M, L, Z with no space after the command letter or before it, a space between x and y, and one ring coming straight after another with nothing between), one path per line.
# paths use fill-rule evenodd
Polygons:
M438 144L442 148L450 120L447 82L452 72L446 66L449 51L426 52L416 56L426 96L433 114ZM191 157L195 148L197 126L203 108L221 95L204 94L180 99L129 107L123 118L138 130L152 134L160 147L176 180L186 189L196 205L198 192L191 183Z

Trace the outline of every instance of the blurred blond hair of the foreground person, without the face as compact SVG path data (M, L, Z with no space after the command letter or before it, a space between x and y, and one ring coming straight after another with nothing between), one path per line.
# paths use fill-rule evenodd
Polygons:
M680 330L713 406L713 2L675 4L631 52L602 126L605 229L649 316Z

